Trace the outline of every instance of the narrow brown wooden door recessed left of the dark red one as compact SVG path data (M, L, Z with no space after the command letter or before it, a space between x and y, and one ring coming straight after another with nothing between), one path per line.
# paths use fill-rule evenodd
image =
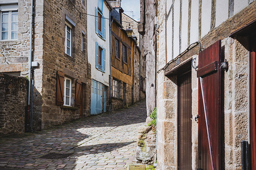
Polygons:
M192 168L192 87L191 71L178 76L178 164L179 169Z

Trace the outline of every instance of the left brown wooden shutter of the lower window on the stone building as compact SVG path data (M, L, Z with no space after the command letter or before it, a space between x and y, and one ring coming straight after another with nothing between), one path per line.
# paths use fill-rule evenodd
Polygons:
M64 73L57 72L56 105L64 104Z

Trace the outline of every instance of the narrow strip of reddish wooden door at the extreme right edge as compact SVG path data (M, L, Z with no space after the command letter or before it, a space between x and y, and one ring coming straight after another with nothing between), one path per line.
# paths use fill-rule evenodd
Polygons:
M256 40L250 48L250 145L251 145L251 169L256 169Z

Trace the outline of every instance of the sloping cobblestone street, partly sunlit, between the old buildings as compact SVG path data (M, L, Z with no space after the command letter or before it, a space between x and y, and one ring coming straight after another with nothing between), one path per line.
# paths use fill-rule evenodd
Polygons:
M142 101L52 129L2 137L0 169L125 169L135 163L137 129L145 121ZM49 153L70 155L49 159Z

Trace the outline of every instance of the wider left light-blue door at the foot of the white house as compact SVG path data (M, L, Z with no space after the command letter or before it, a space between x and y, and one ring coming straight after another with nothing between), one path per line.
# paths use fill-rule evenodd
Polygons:
M91 90L90 114L102 113L102 83L92 80Z

